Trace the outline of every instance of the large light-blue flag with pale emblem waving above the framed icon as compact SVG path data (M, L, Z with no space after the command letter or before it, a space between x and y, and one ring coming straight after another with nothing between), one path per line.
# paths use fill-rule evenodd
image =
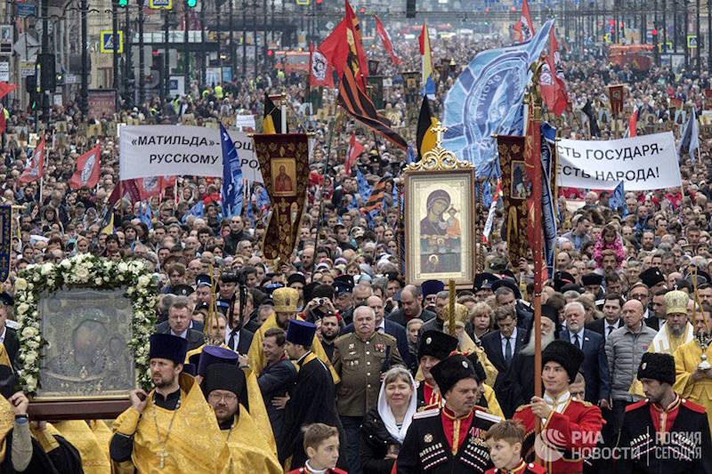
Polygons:
M522 44L480 52L445 98L442 146L474 165L478 178L497 178L497 141L493 134L522 135L522 100L529 67L549 39L554 20Z

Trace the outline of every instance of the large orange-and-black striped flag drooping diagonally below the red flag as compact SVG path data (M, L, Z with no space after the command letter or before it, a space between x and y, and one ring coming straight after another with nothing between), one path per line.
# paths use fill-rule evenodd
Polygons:
M398 148L408 149L408 143L403 140L403 137L392 130L391 121L376 111L368 95L360 89L350 64L344 68L344 76L339 81L338 100L339 105L361 124L382 134Z

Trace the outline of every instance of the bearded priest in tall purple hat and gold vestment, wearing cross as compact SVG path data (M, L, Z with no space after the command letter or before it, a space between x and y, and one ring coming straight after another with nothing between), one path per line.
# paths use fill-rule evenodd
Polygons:
M155 386L132 390L132 406L114 422L109 454L115 472L224 472L230 451L213 409L188 374L181 374L188 342L150 336Z

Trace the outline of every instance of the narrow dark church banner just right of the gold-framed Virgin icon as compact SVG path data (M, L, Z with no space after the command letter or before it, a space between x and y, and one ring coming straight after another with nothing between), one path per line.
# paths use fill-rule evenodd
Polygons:
M524 137L499 135L497 149L502 170L502 197L505 204L506 246L510 263L516 267L529 253L527 199L530 182L524 160Z

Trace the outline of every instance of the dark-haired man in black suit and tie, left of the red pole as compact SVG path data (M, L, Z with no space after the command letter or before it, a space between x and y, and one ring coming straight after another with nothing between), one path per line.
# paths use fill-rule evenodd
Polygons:
M512 305L500 306L495 310L495 320L499 329L483 335L481 342L487 358L501 376L506 373L514 355L522 349L527 332L517 326L517 317Z

